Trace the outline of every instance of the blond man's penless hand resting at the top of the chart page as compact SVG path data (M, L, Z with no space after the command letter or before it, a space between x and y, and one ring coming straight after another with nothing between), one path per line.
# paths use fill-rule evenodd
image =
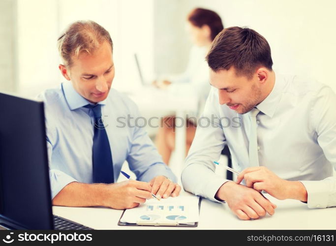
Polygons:
M168 198L170 195L176 197L180 194L181 186L171 182L164 176L156 176L150 182L152 186L152 193L156 195L158 199Z

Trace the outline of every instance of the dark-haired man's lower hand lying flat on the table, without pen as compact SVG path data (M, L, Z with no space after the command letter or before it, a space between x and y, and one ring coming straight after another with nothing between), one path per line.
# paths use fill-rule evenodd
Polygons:
M258 191L228 181L218 189L215 198L226 201L231 211L240 219L257 219L266 213L274 215L276 205Z

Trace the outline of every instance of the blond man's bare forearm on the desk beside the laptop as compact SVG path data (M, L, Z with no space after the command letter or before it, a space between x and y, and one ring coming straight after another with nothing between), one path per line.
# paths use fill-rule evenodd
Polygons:
M53 205L67 207L93 207L105 206L104 190L106 184L84 184L72 182L63 189L52 200Z

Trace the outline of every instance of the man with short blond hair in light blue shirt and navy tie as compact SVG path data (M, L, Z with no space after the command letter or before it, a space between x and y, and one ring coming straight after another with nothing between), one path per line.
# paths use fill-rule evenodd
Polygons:
M71 24L59 38L70 81L39 95L45 102L50 180L54 205L133 208L152 194L178 196L181 187L143 128L118 119L139 116L136 105L111 89L113 43L93 21ZM137 181L115 183L127 161Z

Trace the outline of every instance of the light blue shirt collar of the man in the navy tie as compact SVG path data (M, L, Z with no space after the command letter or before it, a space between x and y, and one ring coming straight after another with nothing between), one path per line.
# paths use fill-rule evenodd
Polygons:
M78 92L76 92L71 82L62 83L61 87L62 87L65 100L68 103L69 108L71 110L81 108L88 104L93 104L89 102L87 99L85 99L83 96L81 96ZM98 104L105 105L106 99L101 102L98 102Z

